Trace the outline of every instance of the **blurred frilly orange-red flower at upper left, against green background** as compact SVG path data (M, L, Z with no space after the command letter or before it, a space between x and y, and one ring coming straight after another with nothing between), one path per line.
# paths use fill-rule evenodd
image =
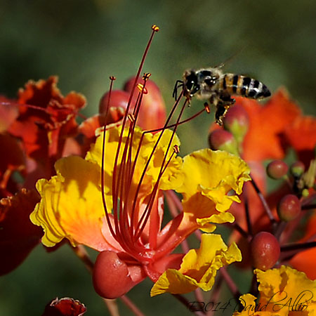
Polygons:
M77 113L86 104L78 93L62 96L57 81L57 77L29 81L20 89L19 116L8 129L22 138L25 152L37 162L61 157L67 137L77 133Z

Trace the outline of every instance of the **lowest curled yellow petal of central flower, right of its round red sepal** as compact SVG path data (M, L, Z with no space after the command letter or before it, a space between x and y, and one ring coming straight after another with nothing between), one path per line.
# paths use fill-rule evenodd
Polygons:
M228 248L220 235L204 234L200 248L191 249L183 257L179 270L166 270L152 287L150 295L166 292L185 294L197 287L209 291L213 287L218 269L241 260L242 255L236 244Z

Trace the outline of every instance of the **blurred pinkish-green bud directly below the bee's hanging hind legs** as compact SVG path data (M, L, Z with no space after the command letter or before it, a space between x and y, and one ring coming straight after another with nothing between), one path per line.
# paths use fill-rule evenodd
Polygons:
M234 105L230 107L224 118L224 129L232 133L237 143L242 143L249 128L249 117L244 107Z

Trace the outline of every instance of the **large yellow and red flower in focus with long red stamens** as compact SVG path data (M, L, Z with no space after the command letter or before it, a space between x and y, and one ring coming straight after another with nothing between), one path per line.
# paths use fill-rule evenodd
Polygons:
M241 260L237 246L226 246L219 235L202 235L199 250L172 252L195 230L212 232L216 223L234 220L228 210L239 202L249 168L228 152L206 149L177 156L175 131L186 102L176 123L170 120L180 98L162 128L142 131L137 123L149 76L137 84L139 73L121 126L105 124L84 159L62 158L55 164L56 176L39 180L41 202L31 220L44 228L46 246L67 238L73 246L100 251L93 284L105 298L125 294L145 277L157 282L152 295L197 287L207 291L218 269ZM162 227L164 195L170 190L183 195L183 211Z

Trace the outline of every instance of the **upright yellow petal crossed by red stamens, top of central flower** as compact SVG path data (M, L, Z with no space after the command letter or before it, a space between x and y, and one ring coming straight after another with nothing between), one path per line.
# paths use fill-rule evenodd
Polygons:
M114 169L114 162L117 153L117 147L119 144L119 135L121 132L121 127L109 129L105 134L105 194L107 196L112 196L112 176ZM129 133L129 129L124 130L124 136L122 138L121 150L119 153L118 162L122 160L122 154L124 152L124 145L126 144L127 136ZM166 155L166 162L170 159L171 154L173 154L173 146L180 145L180 140L176 134L173 136L173 140L171 145L169 145L169 140L171 139L172 131L165 130L162 133L162 137L159 140L159 143L154 150L154 155L150 160L150 163L145 169L145 165L147 164L147 160L152 154L153 147L157 142L161 133L145 133L143 137L139 154L137 156L136 167L133 175L133 180L131 186L129 187L130 197L134 197L136 194L136 189L138 187L138 183L140 183L140 177L145 170L145 177L143 178L143 182L140 186L140 191L138 192L138 199L145 199L155 183L157 183L157 179L159 176L159 172L161 171L162 162L164 159L164 155L166 150L169 147L168 154ZM138 145L140 143L141 136L143 131L136 127L133 131L133 142L131 146L131 162L133 163L136 158L136 153L138 152ZM101 164L102 158L102 146L103 146L103 133L100 133L100 136L96 140L96 144L91 146L91 150L86 154L86 160L89 162L94 162L96 164ZM180 157L176 157L173 154L171 161L168 164L168 167L164 171L162 178L159 180L159 189L161 190L171 190L180 186L183 178L179 174L180 168L182 165L182 159ZM119 169L120 164L118 163L117 169ZM112 209L112 201L109 200L109 204L107 206Z

